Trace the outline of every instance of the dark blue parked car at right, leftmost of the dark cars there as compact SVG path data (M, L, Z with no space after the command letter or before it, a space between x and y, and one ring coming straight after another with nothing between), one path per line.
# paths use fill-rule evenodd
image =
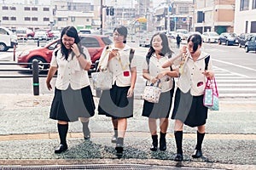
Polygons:
M219 35L218 44L238 45L238 36L233 32L223 32Z

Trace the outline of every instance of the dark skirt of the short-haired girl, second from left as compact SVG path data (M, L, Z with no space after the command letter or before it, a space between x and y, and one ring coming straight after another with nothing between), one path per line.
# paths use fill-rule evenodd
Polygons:
M110 90L103 90L98 105L98 114L113 118L129 118L133 116L133 99L127 98L130 87L118 87L115 84Z

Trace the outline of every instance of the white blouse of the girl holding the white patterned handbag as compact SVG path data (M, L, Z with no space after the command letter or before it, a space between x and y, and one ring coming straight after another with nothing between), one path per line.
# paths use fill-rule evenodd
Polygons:
M167 56L162 56L160 59L157 59L156 55L153 54L149 59L149 65L147 59L145 58L143 61L143 70L148 70L149 66L149 75L151 77L157 77L157 75L162 71L171 71L170 67L163 68L162 65L166 63L168 60ZM172 69L174 70L173 66ZM150 85L151 82L147 81L147 85ZM173 87L173 78L169 76L162 77L160 79L160 88L161 92L167 92L171 90Z

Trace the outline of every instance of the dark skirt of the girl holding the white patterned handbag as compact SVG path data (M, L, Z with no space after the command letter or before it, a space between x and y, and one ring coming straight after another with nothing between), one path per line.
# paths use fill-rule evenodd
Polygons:
M150 103L144 100L143 104L143 116L149 118L169 118L172 107L173 90L160 94L158 103Z

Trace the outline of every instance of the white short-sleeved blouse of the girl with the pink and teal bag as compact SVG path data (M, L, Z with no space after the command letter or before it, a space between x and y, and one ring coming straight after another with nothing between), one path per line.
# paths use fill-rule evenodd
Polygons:
M205 58L207 56L207 53L201 52L199 58L194 61L189 54L189 57L183 67L183 74L181 74L177 81L177 87L180 88L183 93L189 92L190 89L190 94L193 96L204 94L207 78L202 74L202 72L205 71ZM177 62L175 62L174 65L177 65ZM207 70L212 71L211 57L209 59Z

